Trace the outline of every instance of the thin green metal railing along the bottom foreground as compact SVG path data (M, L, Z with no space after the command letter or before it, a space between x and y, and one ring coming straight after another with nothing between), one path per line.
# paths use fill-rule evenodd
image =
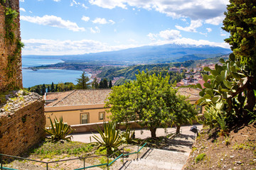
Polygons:
M23 157L15 157L15 156L11 156L11 155L7 155L7 154L0 154L0 169L6 169L6 170L18 170L18 169L11 169L11 168L7 168L3 166L3 157L8 157L8 158L14 158L14 159L22 159L22 160L27 160L27 161L31 161L31 162L40 162L42 164L46 164L46 170L48 170L48 166L49 164L53 164L53 163L57 163L57 162L67 162L67 161L71 161L71 160L77 160L77 159L82 159L83 160L83 167L79 168L79 169L75 169L75 170L81 170L81 169L89 169L92 167L96 167L96 166L107 166L107 169L109 169L110 165L113 164L114 162L117 161L117 159L119 159L120 157L122 157L123 159L123 164L124 164L124 157L127 157L129 154L137 154L137 159L139 159L139 152L142 150L142 148L146 145L146 142L144 143L144 145L142 145L142 143L145 140L143 140L139 145L138 145L138 149L137 152L132 152L132 153L128 153L128 154L124 154L124 148L125 147L130 147L132 145L127 145L122 147L121 149L118 149L116 152L114 152L113 154L111 154L110 156L107 155L97 155L97 156L91 156L91 157L78 157L78 158L73 158L73 159L63 159L63 160L59 160L59 161L54 161L54 162L43 162L43 161L38 161L38 160L33 160L33 159L27 159L27 158L23 158ZM142 145L142 147L139 148L139 146ZM122 150L122 154L120 154L117 158L115 158L112 162L110 162L110 158L116 154L117 152ZM97 165L92 165L92 166L85 166L85 159L88 158L92 158L92 157L107 157L107 163L105 164L97 164ZM109 163L110 162L110 163Z

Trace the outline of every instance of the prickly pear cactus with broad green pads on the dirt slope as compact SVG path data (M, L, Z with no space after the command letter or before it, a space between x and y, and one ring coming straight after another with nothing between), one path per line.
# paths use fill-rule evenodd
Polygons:
M235 55L230 54L229 60L220 59L223 65L215 64L215 69L204 67L210 75L203 75L205 83L196 86L202 91L199 93L201 98L197 104L216 104L223 103L223 111L227 113L228 121L234 119L248 118L248 112L255 107L255 94L253 81L254 75L249 74L244 65L239 60L235 60Z

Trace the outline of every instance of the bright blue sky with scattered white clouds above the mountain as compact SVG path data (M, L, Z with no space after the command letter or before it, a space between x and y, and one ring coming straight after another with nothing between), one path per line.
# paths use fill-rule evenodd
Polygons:
M23 55L78 55L163 44L228 48L228 0L20 0Z

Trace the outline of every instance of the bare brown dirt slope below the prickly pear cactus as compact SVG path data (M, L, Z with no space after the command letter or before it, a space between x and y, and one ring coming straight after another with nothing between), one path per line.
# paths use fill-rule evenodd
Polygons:
M235 128L225 137L215 130L202 130L184 169L255 170L256 123Z

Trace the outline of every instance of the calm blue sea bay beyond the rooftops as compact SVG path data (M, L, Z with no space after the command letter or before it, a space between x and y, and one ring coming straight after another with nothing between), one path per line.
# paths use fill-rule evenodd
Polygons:
M63 62L57 59L38 59L22 57L22 76L23 87L28 88L38 84L58 84L60 82L72 82L77 84L76 79L80 78L82 71L70 69L38 69L33 71L31 69L24 69L27 67L36 67L41 65L55 64ZM90 77L90 74L87 74Z

